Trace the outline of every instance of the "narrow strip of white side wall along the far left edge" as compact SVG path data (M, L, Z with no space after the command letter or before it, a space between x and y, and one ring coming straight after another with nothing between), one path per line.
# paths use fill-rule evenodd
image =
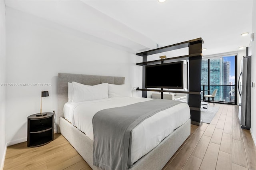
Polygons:
M5 3L0 0L0 84L5 83L5 40ZM5 102L5 87L0 86L0 169L4 166L6 152Z

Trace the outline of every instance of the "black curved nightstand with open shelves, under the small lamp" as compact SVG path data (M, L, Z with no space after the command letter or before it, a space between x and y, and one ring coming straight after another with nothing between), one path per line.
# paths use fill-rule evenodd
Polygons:
M28 117L28 147L38 147L54 140L54 113Z

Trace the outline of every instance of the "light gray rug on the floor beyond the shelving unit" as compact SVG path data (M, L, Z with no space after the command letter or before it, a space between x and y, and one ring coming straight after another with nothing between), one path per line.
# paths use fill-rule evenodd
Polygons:
M206 111L206 109L201 109L201 120L203 120L203 123L211 123L213 117L215 116L219 109L220 107L216 105L208 105L208 111Z

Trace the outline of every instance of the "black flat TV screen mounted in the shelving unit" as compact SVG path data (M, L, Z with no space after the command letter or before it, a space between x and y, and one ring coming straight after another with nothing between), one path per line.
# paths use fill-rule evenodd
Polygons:
M183 61L146 66L146 88L183 89Z

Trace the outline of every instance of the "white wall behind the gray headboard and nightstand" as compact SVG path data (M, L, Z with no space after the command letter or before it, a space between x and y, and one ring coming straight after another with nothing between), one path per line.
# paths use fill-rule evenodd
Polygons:
M26 141L27 117L40 112L42 90L50 95L43 99L43 112L57 111L58 72L124 76L131 87L142 84L142 67L135 64L141 57L88 41L88 36L6 8L6 82L52 83L51 87L6 88L8 145Z

